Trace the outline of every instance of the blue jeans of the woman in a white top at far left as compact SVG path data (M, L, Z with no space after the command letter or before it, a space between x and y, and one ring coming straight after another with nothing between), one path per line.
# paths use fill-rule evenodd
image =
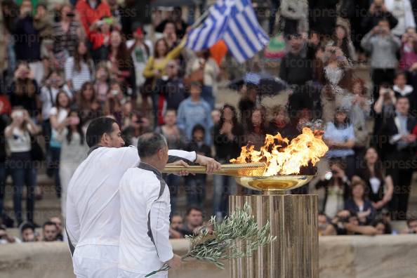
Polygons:
M15 211L15 219L18 221L18 225L23 221L22 192L23 186L26 185L26 218L27 221L33 222L34 188L36 184L37 169L33 167L32 161L30 161L30 153L12 153L8 168L10 169L13 180L13 209Z

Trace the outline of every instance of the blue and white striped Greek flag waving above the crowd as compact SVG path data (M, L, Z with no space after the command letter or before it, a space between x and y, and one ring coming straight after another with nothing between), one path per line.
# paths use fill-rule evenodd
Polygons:
M190 31L185 46L201 51L219 39L225 41L238 62L252 58L269 41L250 0L218 0L210 7L206 20Z

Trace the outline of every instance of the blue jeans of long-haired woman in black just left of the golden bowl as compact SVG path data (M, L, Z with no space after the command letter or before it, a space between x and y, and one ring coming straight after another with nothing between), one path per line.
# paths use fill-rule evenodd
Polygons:
M236 181L230 176L214 175L213 185L213 214L224 217L229 206L229 196L237 192Z

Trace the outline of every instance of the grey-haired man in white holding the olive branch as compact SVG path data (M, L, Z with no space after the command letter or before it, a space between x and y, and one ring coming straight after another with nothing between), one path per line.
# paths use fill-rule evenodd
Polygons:
M146 133L138 141L140 164L121 178L118 278L143 278L164 263L180 265L169 242L169 189L161 171L168 161L163 135ZM155 278L167 277L158 272Z

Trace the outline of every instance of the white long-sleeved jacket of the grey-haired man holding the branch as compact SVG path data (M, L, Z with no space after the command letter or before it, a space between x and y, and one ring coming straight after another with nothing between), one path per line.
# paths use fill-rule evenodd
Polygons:
M126 171L119 192L119 269L139 274L158 270L173 257L168 186L156 168L140 163Z

